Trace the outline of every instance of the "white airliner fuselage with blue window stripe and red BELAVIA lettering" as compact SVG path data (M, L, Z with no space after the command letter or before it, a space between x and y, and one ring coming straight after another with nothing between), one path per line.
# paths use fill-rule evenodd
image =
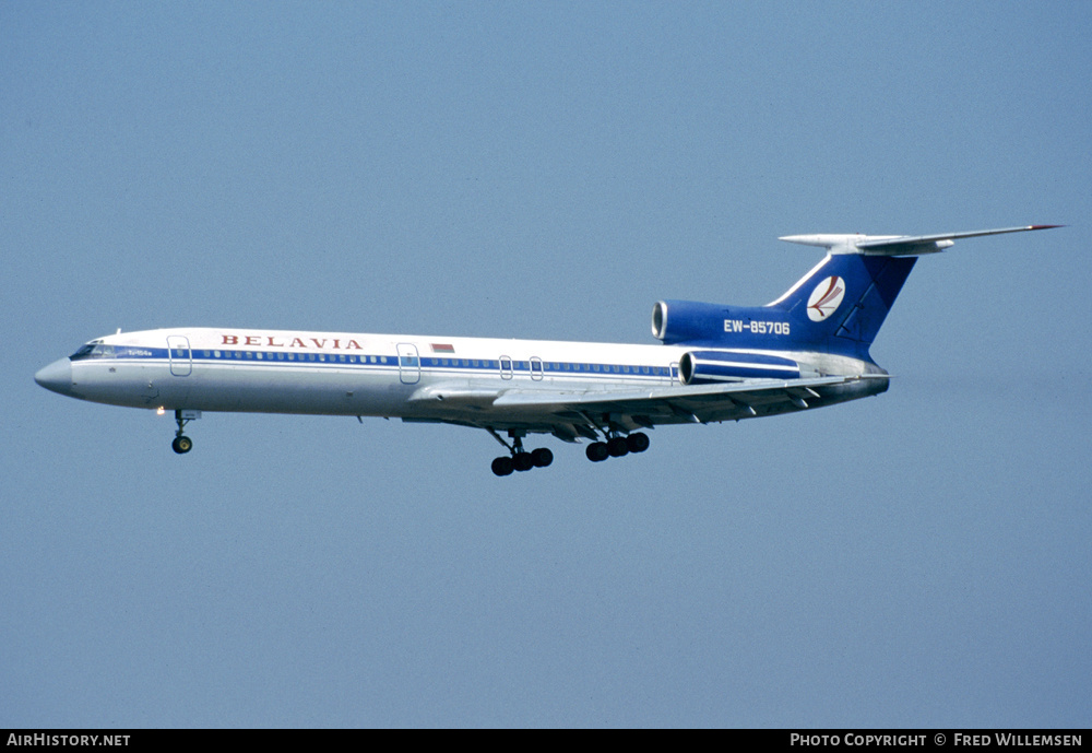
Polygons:
M39 372L71 397L132 408L534 422L492 404L506 390L587 393L679 386L687 348L238 329L93 340ZM81 355L82 354L82 355ZM795 354L800 357L806 354ZM817 355L817 354L812 354ZM830 361L828 357L827 361ZM839 358L842 374L869 365Z

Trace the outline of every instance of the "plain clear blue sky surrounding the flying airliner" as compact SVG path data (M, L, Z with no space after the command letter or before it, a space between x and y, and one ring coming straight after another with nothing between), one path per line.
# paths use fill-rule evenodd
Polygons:
M1085 726L1092 7L0 5L0 726ZM496 479L485 433L173 422L174 326L651 342L780 235L924 259L878 399Z

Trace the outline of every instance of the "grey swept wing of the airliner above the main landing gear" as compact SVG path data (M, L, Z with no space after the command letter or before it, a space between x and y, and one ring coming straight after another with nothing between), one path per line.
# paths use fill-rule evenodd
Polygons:
M818 408L877 395L888 388L888 380L882 374L581 391L435 385L411 398L415 415L404 420L553 434L575 442L596 439L605 431L739 421Z

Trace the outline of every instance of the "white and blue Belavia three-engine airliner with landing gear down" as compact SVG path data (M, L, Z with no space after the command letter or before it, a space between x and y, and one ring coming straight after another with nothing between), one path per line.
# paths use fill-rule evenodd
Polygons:
M664 424L804 411L887 391L868 349L918 256L961 238L790 235L827 255L765 306L660 301L657 345L263 329L156 329L96 338L35 374L81 400L174 411L171 448L202 412L397 417L488 432L499 476L549 466L531 434L587 439L593 462L643 452ZM507 435L507 439L505 436Z

